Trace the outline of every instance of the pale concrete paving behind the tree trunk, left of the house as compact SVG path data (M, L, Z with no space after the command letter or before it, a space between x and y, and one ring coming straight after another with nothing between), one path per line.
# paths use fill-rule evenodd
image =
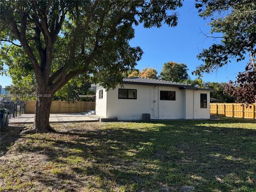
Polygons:
M34 123L34 114L22 114L11 118L9 123ZM50 114L50 123L68 123L68 122L97 122L97 119L86 117L81 114Z

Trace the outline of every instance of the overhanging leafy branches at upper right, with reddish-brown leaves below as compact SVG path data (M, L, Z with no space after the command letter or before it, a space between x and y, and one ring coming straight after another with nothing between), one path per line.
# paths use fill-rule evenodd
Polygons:
M209 37L219 39L197 56L204 63L194 71L196 75L210 73L230 61L244 60L249 53L256 53L256 2L252 0L203 0L197 1L199 15L210 19L212 28ZM239 73L236 82L227 86L238 102L256 102L256 82L253 71L255 66L249 63L243 73ZM248 94L250 92L250 94ZM254 98L254 99L253 99Z

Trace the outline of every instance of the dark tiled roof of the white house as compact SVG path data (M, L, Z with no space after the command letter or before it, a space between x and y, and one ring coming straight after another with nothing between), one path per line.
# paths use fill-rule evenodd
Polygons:
M197 88L194 85L187 84L187 83L171 82L171 81L164 81L161 79L153 79L153 78L145 78L145 77L126 77L126 78L123 78L123 84L153 85L153 86L177 86L177 87L180 87L183 89L215 91L212 89Z

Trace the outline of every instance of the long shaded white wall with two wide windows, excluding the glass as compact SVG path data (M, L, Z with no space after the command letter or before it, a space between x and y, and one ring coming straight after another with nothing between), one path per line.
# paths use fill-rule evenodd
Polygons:
M118 99L118 89L136 89L137 99ZM159 100L160 91L175 91L175 101ZM169 86L124 85L107 92L107 117L120 120L141 119L142 113L149 113L152 119L185 118L185 90Z

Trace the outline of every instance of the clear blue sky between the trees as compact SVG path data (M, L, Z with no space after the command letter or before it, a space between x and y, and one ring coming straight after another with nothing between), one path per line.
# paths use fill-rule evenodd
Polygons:
M144 54L136 68L143 69L151 67L161 73L164 63L175 61L185 63L188 66L188 74L191 75L197 66L202 64L196 56L203 49L211 46L215 41L204 34L210 33L209 20L203 20L198 16L194 1L185 1L183 6L177 10L179 14L178 26L145 29L142 25L135 27L135 37L130 41L131 46L140 46ZM204 74L205 82L228 82L235 80L239 71L244 71L249 58L241 62L231 62L227 66L218 69L212 74ZM0 84L5 87L11 84L11 78L0 76Z

